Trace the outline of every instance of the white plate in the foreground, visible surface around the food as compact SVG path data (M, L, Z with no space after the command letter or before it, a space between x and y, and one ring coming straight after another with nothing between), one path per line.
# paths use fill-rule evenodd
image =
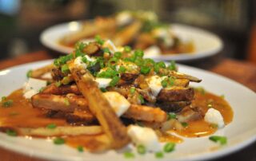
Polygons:
M35 69L49 63L50 61L38 61L0 71L0 96L9 95L15 89L21 88L26 81L26 72L29 69ZM177 145L174 152L165 154L165 157L161 160L213 159L238 151L254 142L256 139L255 92L226 77L201 69L179 65L179 70L182 73L189 73L202 78L202 83L192 85L203 86L206 90L217 95L224 94L226 100L234 109L234 120L222 131L218 131L218 135L226 135L228 138L226 146L214 151L212 149L218 147L218 144L211 142L208 137L185 139L184 143ZM120 151L108 151L103 154L80 153L66 145L54 145L50 140L10 137L1 132L0 146L10 151L51 160L127 160ZM134 160L151 161L159 159L155 159L154 154L146 154L136 155Z

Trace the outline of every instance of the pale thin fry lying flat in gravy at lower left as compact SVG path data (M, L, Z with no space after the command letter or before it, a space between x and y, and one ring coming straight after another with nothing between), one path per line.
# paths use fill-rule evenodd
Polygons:
M100 126L60 126L56 128L17 128L20 135L58 136L58 135L98 135L102 134Z

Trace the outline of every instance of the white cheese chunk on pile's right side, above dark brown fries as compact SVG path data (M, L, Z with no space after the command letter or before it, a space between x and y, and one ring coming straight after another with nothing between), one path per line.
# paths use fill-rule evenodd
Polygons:
M149 85L151 92L153 96L158 96L158 93L162 89L162 80L164 80L166 77L159 77L159 76L152 76L149 78L146 78L146 83Z

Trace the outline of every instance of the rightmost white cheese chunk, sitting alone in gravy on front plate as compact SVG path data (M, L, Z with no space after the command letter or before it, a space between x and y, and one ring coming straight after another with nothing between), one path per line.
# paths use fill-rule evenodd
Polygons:
M210 124L217 124L218 128L223 128L225 125L222 114L214 108L208 109L204 119Z

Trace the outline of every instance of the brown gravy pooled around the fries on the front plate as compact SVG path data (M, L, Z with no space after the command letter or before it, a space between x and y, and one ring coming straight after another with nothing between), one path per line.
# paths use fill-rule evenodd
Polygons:
M44 110L33 108L30 101L22 96L22 89L12 92L10 96L7 96L7 99L13 100L14 103L8 108L0 107L0 128L41 128L46 127L48 124L68 125L66 120L46 118ZM229 124L233 120L233 110L221 96L216 96L210 92L205 94L195 92L192 106L197 106L205 114L209 109L208 104L211 104L213 108L221 112L225 124ZM201 137L213 134L218 130L212 124L206 123L203 117L201 120L190 121L187 124L188 126L182 128L182 130L171 130L170 132L185 137ZM92 135L66 136L66 143L71 147L83 146L92 151L101 148L101 146L106 146L106 140L108 140L106 135L100 134L97 137L94 135L94 139L92 137ZM183 140L177 135L162 134L160 141L182 143Z

